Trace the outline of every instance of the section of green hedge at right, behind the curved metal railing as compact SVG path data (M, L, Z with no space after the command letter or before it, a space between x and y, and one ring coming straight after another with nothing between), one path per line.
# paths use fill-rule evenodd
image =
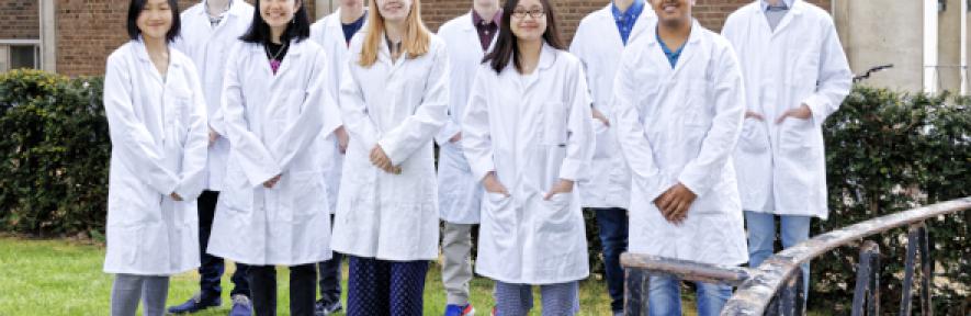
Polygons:
M971 195L969 101L948 93L855 89L823 129L831 216L814 221L813 234ZM971 212L927 222L932 257L938 264L933 296L936 311L946 315L968 311L969 219ZM906 228L870 239L879 244L884 266L880 280L883 311L895 313L902 295ZM848 314L858 256L857 247L843 247L813 261L812 300L833 302L827 306ZM919 301L915 296L913 302Z

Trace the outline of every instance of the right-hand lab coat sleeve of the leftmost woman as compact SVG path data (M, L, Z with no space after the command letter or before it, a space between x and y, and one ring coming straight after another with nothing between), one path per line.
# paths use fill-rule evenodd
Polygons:
M208 156L208 125L206 104L202 84L196 78L195 67L189 67L192 77L192 105L189 112L189 132L182 145L182 173L176 193L185 201L192 201L205 189L205 168Z

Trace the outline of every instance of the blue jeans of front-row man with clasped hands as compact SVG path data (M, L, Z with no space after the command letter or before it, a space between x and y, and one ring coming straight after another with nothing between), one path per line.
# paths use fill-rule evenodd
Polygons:
M681 315L680 280L670 275L651 276L647 290L647 314ZM695 282L698 287L698 315L719 315L732 296L732 286Z

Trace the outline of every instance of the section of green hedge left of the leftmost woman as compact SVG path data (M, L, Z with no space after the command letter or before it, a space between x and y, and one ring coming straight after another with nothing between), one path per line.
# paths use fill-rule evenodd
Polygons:
M100 78L0 74L0 230L103 232L111 142Z

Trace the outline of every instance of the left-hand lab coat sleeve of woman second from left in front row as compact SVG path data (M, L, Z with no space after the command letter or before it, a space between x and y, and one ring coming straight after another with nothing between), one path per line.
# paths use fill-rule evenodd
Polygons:
M229 57L223 79L221 103L226 124L226 137L229 138L232 150L236 159L239 159L239 167L246 174L250 187L257 187L280 174L282 168L276 165L276 159L270 155L260 137L249 131L249 122L246 117L247 104L242 94L242 82L239 78L241 76L239 69L250 67L250 65L242 63L240 55L247 49L247 47L238 45Z

